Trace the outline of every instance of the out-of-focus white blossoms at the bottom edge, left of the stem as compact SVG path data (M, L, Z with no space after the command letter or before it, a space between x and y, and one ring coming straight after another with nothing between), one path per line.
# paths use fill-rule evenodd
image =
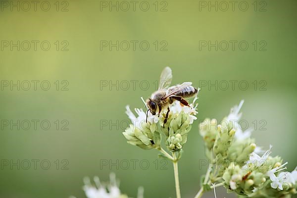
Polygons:
M105 185L101 184L99 177L94 177L95 185L90 181L90 178L85 178L83 190L85 191L87 198L128 198L127 195L124 195L120 192L119 184L116 181L115 174L110 174L110 182ZM142 187L138 189L137 198L143 198L144 190ZM74 198L74 197L71 197Z

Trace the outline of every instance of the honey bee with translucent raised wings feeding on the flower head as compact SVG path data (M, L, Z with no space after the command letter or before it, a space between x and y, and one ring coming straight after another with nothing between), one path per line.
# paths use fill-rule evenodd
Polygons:
M198 89L191 86L192 82L184 82L181 85L175 85L169 87L172 81L172 71L170 67L165 67L160 76L160 82L158 90L151 94L150 98L146 100L148 111L152 115L158 112L158 117L162 109L167 108L167 113L164 119L164 124L167 122L169 115L169 105L175 100L181 102L181 104L190 106L189 102L184 98L190 98L197 94ZM168 88L169 87L169 88ZM147 122L148 122L148 111L147 111Z

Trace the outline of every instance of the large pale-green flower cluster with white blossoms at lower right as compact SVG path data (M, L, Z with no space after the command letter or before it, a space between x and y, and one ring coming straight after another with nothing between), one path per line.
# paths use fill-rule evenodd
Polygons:
M211 160L204 186L221 182L227 192L251 198L280 198L296 194L297 169L286 169L279 156L271 157L271 148L261 156L255 141L250 138L251 130L239 127L240 109L243 100L219 124L215 119L200 123L200 135ZM213 167L214 166L214 167ZM205 187L204 187L205 188Z

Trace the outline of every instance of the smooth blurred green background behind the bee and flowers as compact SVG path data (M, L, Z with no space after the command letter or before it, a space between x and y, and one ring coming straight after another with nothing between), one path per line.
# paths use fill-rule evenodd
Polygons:
M172 164L160 161L156 150L128 145L122 135L123 126L127 126L125 106L144 108L140 97L147 98L155 90L154 82L165 66L173 70L173 84L192 81L199 87L203 85L201 83L207 83L199 93L198 120L205 117L221 119L229 113L230 107L245 99L243 119L251 127L254 120L258 122L252 133L257 145L264 149L273 145L273 155L281 155L289 161L289 170L295 168L296 0L247 0L247 11L239 9L241 1L237 1L234 11L231 4L223 11L222 1L217 1L217 11L215 7L210 7L209 11L209 4L216 3L214 0L146 1L148 11L142 10L146 9L146 4L140 8L143 1L137 1L135 11L133 4L126 2L130 3L127 11L123 11L126 9L123 1L118 1L119 11L116 7L109 11L109 4L116 5L116 1L95 0L47 1L46 4L40 1L36 11L33 3L30 3L30 10L25 11L28 7L23 1L0 1L1 198L67 198L71 195L84 198L83 177L98 175L102 181L107 181L110 172L116 173L121 191L131 197L136 197L137 188L143 186L147 198L174 198ZM102 6L106 5L104 3L107 7ZM11 8L11 4L16 4L20 10ZM49 11L44 11L41 4L44 10L49 4ZM160 11L162 7L163 11ZM8 41L8 47L5 47L5 41ZM16 44L12 50L10 41ZM27 51L24 41L31 43ZM36 50L32 41L39 41ZM48 41L45 43L50 44L49 50L41 48L43 41ZM109 46L102 47L102 41L113 44L119 41L119 45L122 41L138 43L135 50L131 44L125 51L122 50L126 48L125 42L119 50L116 47L109 50ZM142 41L149 43L148 50L140 48ZM249 46L247 50L241 50L237 43L234 50L231 45L227 50L222 50L224 46L208 50L201 48L199 41L211 41L212 44L218 41L218 45L221 41L246 41ZM46 44L44 48L47 48ZM31 89L25 91L26 80L39 80L37 90L31 82ZM138 81L135 89L131 80ZM208 88L209 83L217 81L223 86L219 83L230 80L247 82L247 90L241 89L238 83L234 90L231 83L225 91L219 89L220 86L217 90ZM11 81L20 81L19 91L17 87L10 88ZM49 82L48 91L41 89L42 81ZM116 84L117 81L118 86L110 89L110 82ZM130 87L124 90L126 81ZM148 89L146 83L141 86L142 81L148 82ZM5 87L7 82L9 85ZM106 82L108 86L102 87ZM263 85L266 91L260 89ZM46 87L44 84L43 88ZM8 126L5 120L8 120ZM13 125L17 120L39 120L39 123L36 130L32 125L24 130L27 125L23 122L17 130ZM49 130L41 128L42 120L49 120ZM265 120L266 130L259 130L261 120ZM205 157L198 122L194 123L179 163L184 198L196 195L199 177L206 170L206 166L199 168L199 160ZM64 125L69 130L61 130ZM34 159L39 160L36 170ZM134 159L139 160L135 170L131 162ZM11 160L13 163L20 160L19 170L17 165L10 167ZM27 167L26 160L31 161L28 170L23 168ZM41 167L42 160L50 162L48 170L43 168L47 163ZM119 167L100 167L102 160L108 163L119 160ZM127 170L124 161L121 166L122 160L130 161ZM141 168L141 160L148 160L148 169ZM9 165L5 165L7 161ZM68 170L64 170L63 165ZM161 169L162 165L167 170ZM213 194L207 196L213 197ZM220 198L223 196L232 197L219 193Z

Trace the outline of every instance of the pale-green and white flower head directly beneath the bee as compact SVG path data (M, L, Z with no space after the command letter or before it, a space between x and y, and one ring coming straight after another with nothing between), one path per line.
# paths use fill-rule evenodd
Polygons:
M191 124L197 119L195 116L198 112L195 97L190 106L182 105L179 101L169 105L169 114L167 121L164 123L167 109L160 112L160 115L152 115L148 111L147 115L142 109L135 109L137 116L126 106L126 114L131 120L130 126L123 132L123 135L131 145L144 149L161 147L162 135L165 137L165 143L170 151L181 151L183 145L187 142L188 132Z

